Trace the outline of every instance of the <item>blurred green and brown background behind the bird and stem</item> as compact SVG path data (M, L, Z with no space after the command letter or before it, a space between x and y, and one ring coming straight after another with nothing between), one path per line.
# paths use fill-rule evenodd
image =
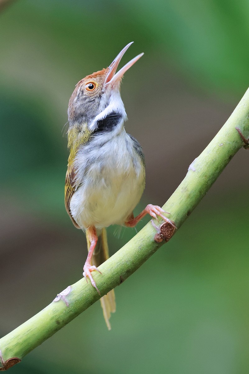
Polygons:
M122 64L145 53L121 91L146 155L136 212L162 205L248 88L248 18L247 0L1 8L1 335L82 276L85 237L64 208L63 126L78 80L130 41ZM96 303L12 373L248 373L248 157L240 150L174 238L116 288L110 332ZM110 227L110 252L134 234Z

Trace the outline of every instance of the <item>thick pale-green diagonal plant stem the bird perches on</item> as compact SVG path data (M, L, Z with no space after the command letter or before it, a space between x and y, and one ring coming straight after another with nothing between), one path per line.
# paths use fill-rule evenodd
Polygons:
M192 162L186 177L163 206L171 212L169 218L178 229L244 145L236 127L245 138L249 137L249 89L215 138ZM102 275L96 272L94 279L101 295L120 285L163 244L155 242L155 233L155 227L149 222L130 242L99 266ZM68 286L41 312L0 339L0 370L21 361L27 353L99 298L96 289L85 279Z

